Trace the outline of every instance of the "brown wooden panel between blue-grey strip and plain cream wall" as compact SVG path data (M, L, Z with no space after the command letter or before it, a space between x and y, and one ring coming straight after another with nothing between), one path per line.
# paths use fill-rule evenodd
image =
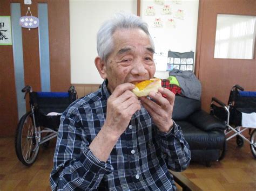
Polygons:
M51 91L70 86L69 0L48 1Z

